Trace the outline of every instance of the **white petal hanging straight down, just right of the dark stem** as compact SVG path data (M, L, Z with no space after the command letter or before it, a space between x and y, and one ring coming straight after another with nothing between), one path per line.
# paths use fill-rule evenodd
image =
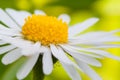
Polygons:
M44 74L50 74L53 70L53 61L51 51L49 49L44 52L42 62Z

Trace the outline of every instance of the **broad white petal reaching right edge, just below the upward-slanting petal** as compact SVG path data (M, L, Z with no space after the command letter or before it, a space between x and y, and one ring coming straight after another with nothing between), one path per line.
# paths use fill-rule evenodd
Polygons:
M103 42L120 41L120 38L114 36L120 30L113 30L111 32L89 32L77 37L69 38L70 44L98 44ZM94 39L93 39L94 37Z

